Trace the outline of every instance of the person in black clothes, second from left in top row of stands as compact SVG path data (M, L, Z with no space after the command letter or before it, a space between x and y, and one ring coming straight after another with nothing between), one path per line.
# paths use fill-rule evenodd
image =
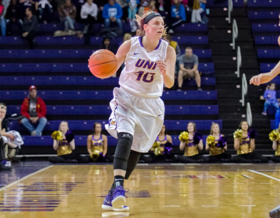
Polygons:
M6 13L7 35L19 36L22 31L22 20L19 17L20 10L16 0L11 0L11 3Z

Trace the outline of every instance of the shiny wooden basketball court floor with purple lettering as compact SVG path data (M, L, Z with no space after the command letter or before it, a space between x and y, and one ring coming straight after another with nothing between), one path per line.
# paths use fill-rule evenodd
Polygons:
M7 185L0 172L1 218L266 218L280 204L280 164L138 165L124 186L129 213L101 209L112 165L43 166Z

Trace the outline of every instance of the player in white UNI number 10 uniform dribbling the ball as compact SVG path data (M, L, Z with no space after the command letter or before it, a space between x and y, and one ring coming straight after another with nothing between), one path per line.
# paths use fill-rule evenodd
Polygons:
M118 139L114 155L114 182L103 201L104 210L128 211L124 179L134 170L141 153L148 152L164 119L163 85L174 85L175 50L161 40L166 35L163 18L148 11L136 15L137 36L117 51L118 68L125 62L110 102L108 132Z

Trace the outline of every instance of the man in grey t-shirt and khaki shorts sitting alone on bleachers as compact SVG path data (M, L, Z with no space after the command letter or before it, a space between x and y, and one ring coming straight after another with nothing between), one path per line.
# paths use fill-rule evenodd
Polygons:
M198 56L193 54L191 47L185 49L185 54L179 57L180 70L178 73L178 89L182 90L183 81L185 78L195 78L197 90L202 91L200 88L201 78L198 71Z

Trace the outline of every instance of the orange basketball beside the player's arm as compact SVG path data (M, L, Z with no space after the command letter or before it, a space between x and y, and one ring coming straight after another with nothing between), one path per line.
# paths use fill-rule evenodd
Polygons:
M116 56L106 49L95 51L88 59L88 67L91 73L100 79L113 76L117 72L117 66Z

